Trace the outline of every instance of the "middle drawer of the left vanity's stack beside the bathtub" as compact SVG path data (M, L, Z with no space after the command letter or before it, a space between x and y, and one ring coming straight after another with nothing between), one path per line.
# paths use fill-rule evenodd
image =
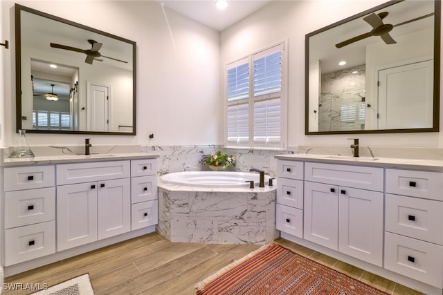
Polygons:
M157 175L131 178L131 202L139 203L157 198Z

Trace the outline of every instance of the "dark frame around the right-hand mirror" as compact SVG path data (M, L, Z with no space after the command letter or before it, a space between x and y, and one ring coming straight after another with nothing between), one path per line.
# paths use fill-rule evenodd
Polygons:
M438 132L440 124L440 20L441 20L441 3L435 0L434 6L434 77L433 77L433 126L431 128L419 129L371 129L371 130L355 130L355 131L309 131L309 37L340 26L359 17L363 17L382 8L392 6L401 1L389 1L369 10L360 12L357 15L348 17L329 26L310 32L305 36L305 135L327 135L327 134L361 134L361 133L417 133L417 132Z

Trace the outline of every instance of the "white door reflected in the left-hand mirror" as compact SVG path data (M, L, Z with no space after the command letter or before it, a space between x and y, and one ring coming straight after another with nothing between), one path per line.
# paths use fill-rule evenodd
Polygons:
M91 84L91 131L109 131L109 88Z

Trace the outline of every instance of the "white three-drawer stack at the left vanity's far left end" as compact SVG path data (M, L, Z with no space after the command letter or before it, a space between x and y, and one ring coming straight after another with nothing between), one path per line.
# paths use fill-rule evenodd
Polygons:
M54 165L3 170L3 265L55 253Z

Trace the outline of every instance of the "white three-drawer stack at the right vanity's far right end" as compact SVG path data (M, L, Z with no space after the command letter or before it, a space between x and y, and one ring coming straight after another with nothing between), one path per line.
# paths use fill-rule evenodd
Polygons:
M386 169L385 267L443 288L443 173Z

